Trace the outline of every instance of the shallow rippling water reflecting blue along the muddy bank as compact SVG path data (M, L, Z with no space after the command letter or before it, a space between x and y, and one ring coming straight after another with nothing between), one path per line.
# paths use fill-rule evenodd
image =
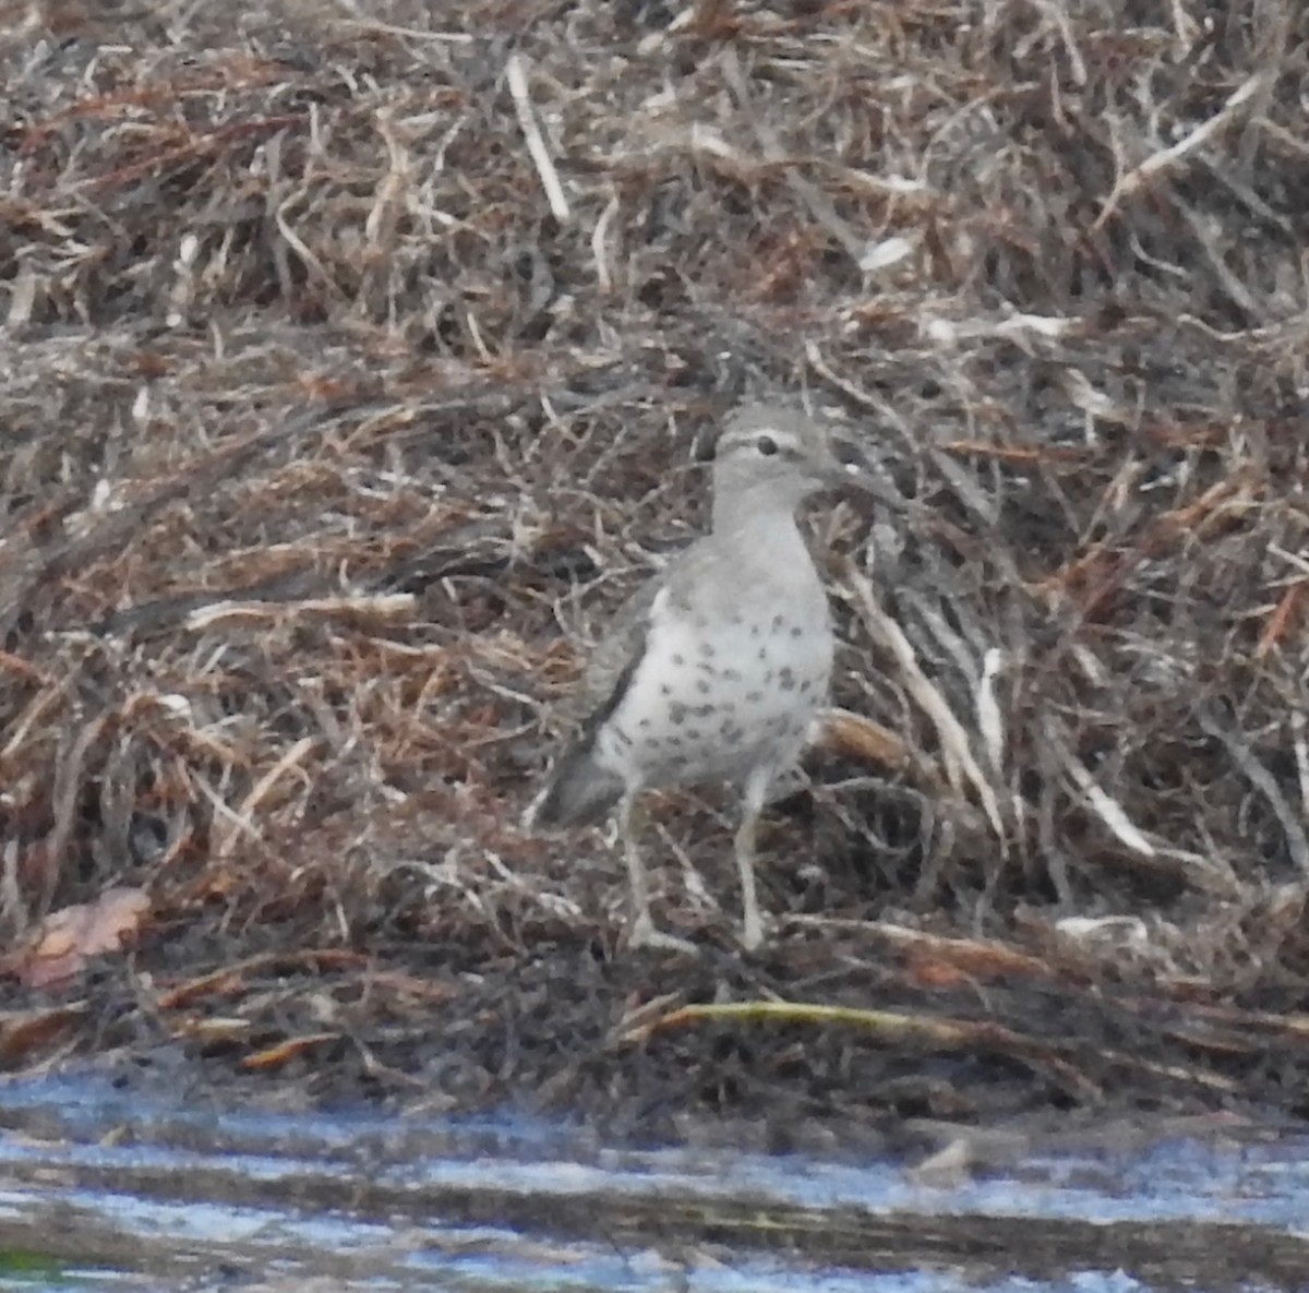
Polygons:
M92 1078L0 1084L0 1289L1309 1289L1301 1137L1024 1152L927 1184L853 1157L198 1107Z

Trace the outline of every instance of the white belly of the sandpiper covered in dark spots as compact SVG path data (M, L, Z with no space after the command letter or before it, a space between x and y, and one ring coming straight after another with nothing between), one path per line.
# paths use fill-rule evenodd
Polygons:
M628 785L742 781L793 763L826 703L831 636L800 611L687 615L653 631L597 737Z

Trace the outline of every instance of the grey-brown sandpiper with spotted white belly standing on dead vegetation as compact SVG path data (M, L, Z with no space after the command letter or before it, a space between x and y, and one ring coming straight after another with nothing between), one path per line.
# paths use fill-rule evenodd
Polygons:
M798 762L833 667L827 594L796 513L819 491L868 488L857 444L785 402L740 406L702 437L698 457L712 462L709 531L614 615L583 670L573 700L581 721L525 817L529 830L548 831L617 813L630 949L694 950L651 915L637 801L645 790L715 783L741 794L740 942L763 944L761 813Z

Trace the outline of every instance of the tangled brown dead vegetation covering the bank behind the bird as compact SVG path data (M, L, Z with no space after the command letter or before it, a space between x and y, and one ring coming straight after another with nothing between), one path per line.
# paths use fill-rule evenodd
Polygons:
M1304 1111L1302 7L0 9L8 1065ZM706 957L634 961L602 840L517 821L744 386L884 474L817 537L848 713L776 945L683 798ZM124 886L89 971L50 920ZM649 1026L757 999L838 1014Z

